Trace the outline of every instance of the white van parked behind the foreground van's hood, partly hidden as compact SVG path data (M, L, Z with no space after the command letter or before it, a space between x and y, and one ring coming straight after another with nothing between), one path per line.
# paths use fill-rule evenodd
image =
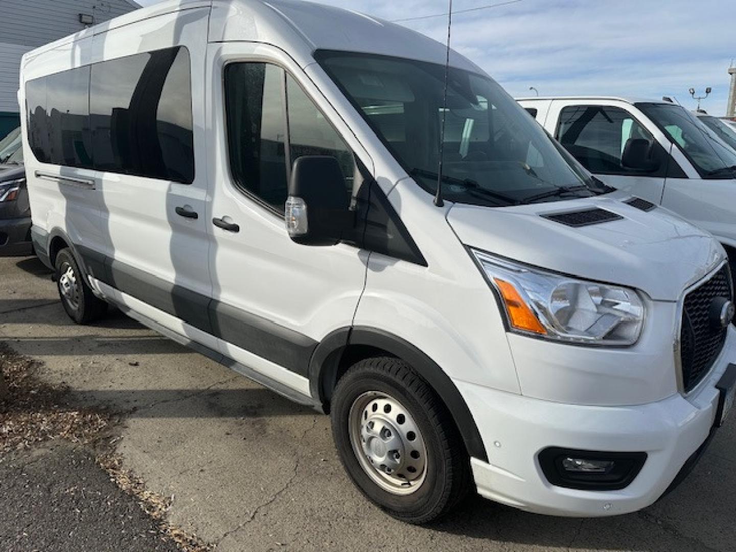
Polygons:
M672 102L616 97L519 103L606 184L712 233L736 270L736 151L695 114Z

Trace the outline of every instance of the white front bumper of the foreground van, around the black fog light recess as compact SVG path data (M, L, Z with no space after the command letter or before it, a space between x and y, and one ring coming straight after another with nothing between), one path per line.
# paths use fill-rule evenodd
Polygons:
M473 413L489 462L472 459L478 493L509 506L573 517L626 514L654 503L711 433L719 392L715 385L736 361L736 329L710 374L687 397L636 406L578 406L456 382ZM618 491L551 485L537 455L546 447L645 452L639 475Z

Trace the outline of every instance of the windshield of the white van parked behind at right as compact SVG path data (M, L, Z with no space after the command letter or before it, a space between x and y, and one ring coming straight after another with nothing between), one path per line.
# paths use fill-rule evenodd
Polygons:
M636 106L677 144L702 178L736 177L736 151L723 143L684 107L638 103Z

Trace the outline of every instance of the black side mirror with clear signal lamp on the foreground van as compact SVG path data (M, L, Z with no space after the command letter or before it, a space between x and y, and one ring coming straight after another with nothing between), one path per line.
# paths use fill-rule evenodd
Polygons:
M352 228L350 199L336 158L305 155L294 161L286 199L286 229L302 245L335 245Z

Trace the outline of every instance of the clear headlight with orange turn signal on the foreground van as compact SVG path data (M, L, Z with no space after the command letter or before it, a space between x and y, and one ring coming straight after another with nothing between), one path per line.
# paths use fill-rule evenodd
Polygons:
M471 251L498 291L513 331L584 344L631 345L639 339L645 309L633 289L586 282Z

